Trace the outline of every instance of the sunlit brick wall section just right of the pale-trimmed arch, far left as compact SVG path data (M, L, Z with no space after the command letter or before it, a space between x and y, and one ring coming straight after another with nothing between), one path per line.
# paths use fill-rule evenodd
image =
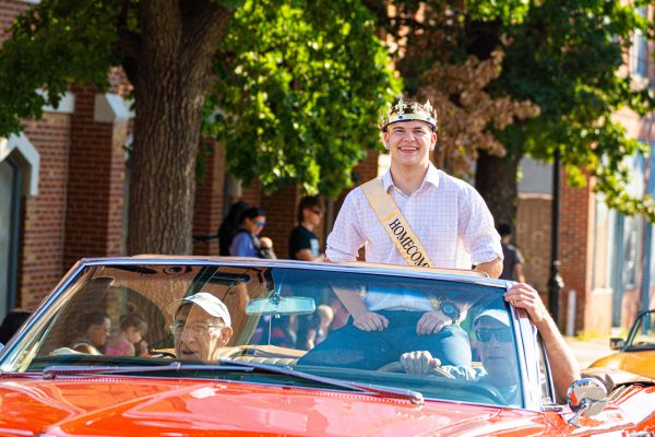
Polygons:
M23 126L40 155L40 173L38 196L23 198L16 305L34 309L63 273L71 117L45 114Z

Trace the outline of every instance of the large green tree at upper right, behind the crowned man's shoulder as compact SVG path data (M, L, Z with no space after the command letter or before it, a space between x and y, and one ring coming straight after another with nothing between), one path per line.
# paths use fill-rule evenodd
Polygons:
M652 38L653 31L636 8L645 2L397 0L391 16L374 2L365 2L377 11L381 28L402 35L398 40L405 42L396 62L406 92L420 95L429 94L429 88L450 90L446 97L457 111L444 111L442 119L452 114L472 117L464 122L474 128L472 134L441 132L439 146L463 157L453 156L460 165L450 166L452 173L468 170L471 158L477 158L476 188L497 220L515 218L520 160L528 155L550 161L555 150L560 152L570 182L584 184L585 176L594 176L595 189L607 194L610 206L655 220L650 197L627 193L629 175L622 162L641 149L612 119L623 108L639 114L652 108L650 90L636 88L631 78L621 73L622 55L633 34L641 32ZM499 50L504 52L500 72L484 91L495 101L509 98L539 108L538 115L528 117L505 110L512 118L505 125L487 116L483 131L502 144L500 149L488 146L493 141L474 141L479 134L476 127L485 119L471 111L467 95L479 83L468 87L451 84L443 81L443 74L430 72L443 66L461 68L471 59L486 62ZM434 82L434 78L441 81ZM489 108L498 109L495 105Z

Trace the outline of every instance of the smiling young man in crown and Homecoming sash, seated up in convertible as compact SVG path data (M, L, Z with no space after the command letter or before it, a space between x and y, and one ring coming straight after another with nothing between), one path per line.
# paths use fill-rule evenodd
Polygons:
M391 168L348 193L327 237L326 259L355 261L364 246L369 262L475 265L474 270L498 277L502 271L500 236L483 198L430 162L437 144L437 113L429 102L421 105L401 98L382 116L381 129ZM385 339L425 344L448 364L471 364L468 338L458 326L466 308L457 303L426 295L389 296L374 290L367 291L365 299L347 291L335 288L335 293L353 320L310 351L302 364L374 367L371 353L377 362L398 358L400 354L392 356L396 349L381 352ZM368 352L358 358L347 353L346 344Z

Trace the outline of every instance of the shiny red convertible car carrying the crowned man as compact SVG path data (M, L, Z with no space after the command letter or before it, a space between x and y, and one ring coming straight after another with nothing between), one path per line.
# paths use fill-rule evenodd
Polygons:
M0 435L654 433L643 377L597 369L555 401L509 286L372 264L82 260L0 352ZM354 327L357 305L383 329ZM454 323L418 334L436 305ZM410 371L413 351L439 361Z

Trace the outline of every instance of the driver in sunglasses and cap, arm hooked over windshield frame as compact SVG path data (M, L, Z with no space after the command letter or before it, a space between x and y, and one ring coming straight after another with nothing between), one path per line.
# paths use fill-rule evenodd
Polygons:
M551 365L557 401L564 402L569 387L580 378L580 368L539 294L528 284L517 283L505 293L504 299L525 309L539 331ZM504 308L484 309L473 321L473 332L483 367L441 366L428 351L405 353L401 355L401 364L407 374L430 374L438 367L457 379L487 382L496 387L509 404L519 405L516 352L509 312Z

